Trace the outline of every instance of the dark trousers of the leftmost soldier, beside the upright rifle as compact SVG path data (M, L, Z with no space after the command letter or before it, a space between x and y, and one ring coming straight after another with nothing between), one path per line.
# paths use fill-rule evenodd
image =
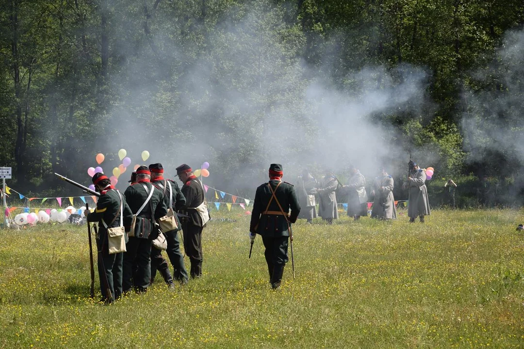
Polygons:
M97 266L100 278L100 290L106 300L115 300L122 296L122 262L124 253L109 254L107 247L107 233L100 232L100 239L96 239L98 251ZM108 294L107 289L111 292Z

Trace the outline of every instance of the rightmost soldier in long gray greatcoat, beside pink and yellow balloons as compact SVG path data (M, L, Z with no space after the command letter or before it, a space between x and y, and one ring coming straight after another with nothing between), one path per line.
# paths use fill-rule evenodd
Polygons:
M408 216L412 223L417 216L420 222L424 222L424 216L429 216L431 213L428 200L428 188L425 186L426 175L425 172L417 166L416 163L410 161L409 177L408 177Z

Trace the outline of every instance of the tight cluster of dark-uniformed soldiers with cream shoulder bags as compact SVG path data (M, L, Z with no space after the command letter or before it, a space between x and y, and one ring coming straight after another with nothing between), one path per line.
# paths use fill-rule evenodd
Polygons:
M88 222L99 222L96 237L98 272L102 302L112 303L123 294L135 290L145 292L158 270L169 287L174 282L188 283L189 276L202 275L202 229L205 218L197 209L205 201L202 183L187 164L177 167L177 176L183 183L165 179L162 164L140 166L132 174L131 184L120 193L107 176L96 173L93 184L100 198L93 212L86 214ZM161 250L152 247L160 234L158 222L174 215L174 229L163 231L167 241L167 255L173 266L173 275ZM178 216L181 216L179 218ZM108 230L122 226L125 230L125 252L110 253ZM183 231L185 253L191 262L190 273L184 266L178 232Z

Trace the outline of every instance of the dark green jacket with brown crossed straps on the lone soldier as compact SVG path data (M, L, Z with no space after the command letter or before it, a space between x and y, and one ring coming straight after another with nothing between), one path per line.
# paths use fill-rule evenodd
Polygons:
M280 202L280 206L282 206L284 213L288 214L289 210L291 210L289 218L282 215L264 214L272 196L269 185L271 185L271 188L275 190L279 182L280 181L271 180L269 183L264 183L257 188L255 201L253 202L249 231L256 232L263 237L289 237L288 220L289 223L296 222L300 213L300 204L297 194L291 184L282 182L275 192L275 196ZM280 208L275 199L271 201L268 211L280 212Z

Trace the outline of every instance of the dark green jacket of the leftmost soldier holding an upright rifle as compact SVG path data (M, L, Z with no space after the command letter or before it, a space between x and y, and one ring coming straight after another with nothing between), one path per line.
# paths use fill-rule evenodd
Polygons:
M133 213L127 205L125 195L123 193L121 194L123 199L122 204L124 205L124 227L126 227L126 231L129 231ZM99 233L106 231L104 224L102 224L102 219L109 228L120 226L120 198L114 187L110 187L101 193L95 210L92 213L88 213L85 217L88 222L99 222ZM115 217L115 221L110 225Z

